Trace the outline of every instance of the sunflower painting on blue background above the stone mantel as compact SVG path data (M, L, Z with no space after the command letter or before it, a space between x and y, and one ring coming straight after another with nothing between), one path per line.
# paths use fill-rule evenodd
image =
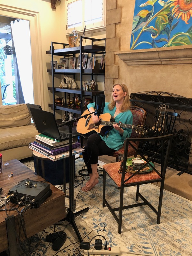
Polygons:
M130 50L192 44L192 0L136 0Z

